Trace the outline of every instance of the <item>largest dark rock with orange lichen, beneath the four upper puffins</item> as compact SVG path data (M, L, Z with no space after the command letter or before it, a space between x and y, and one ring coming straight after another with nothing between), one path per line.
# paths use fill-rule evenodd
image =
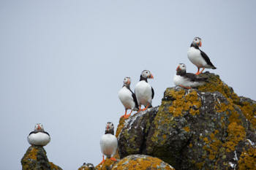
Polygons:
M215 74L203 76L206 85L167 88L161 106L119 123L120 158L151 155L175 169L255 169L256 101Z

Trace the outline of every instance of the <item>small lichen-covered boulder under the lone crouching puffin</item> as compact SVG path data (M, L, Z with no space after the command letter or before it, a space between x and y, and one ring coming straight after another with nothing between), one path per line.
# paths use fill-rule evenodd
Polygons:
M62 170L48 161L45 149L39 146L31 146L21 159L23 170Z

